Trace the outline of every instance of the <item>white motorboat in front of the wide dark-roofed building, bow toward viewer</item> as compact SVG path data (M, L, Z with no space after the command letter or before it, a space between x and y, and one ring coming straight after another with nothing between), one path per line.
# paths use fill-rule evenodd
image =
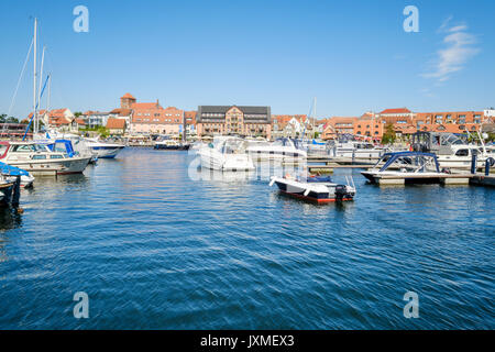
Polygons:
M219 170L254 170L253 160L245 153L246 142L239 138L216 138L199 150L201 167Z

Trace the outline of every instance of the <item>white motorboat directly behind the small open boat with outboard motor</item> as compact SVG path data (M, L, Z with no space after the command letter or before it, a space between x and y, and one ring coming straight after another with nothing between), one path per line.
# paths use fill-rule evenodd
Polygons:
M296 147L290 139L267 141L248 141L246 153L254 161L304 162L307 153Z

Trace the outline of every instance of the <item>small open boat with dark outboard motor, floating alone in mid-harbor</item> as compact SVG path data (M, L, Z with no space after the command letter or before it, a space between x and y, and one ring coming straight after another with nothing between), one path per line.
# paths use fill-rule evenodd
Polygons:
M354 186L332 183L329 177L315 176L302 182L290 176L272 176L270 186L273 184L283 194L317 204L352 200L355 195Z

